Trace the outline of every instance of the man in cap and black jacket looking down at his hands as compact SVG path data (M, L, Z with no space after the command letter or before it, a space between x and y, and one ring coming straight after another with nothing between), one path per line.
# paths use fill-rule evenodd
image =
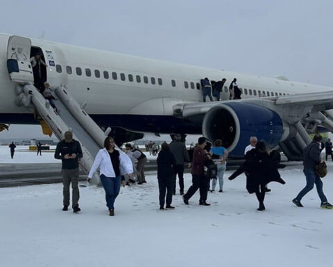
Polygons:
M54 154L56 159L62 161L62 183L64 184L64 208L63 211L67 211L69 207L69 186L73 188L72 193L72 207L73 212L80 211L78 207L78 200L80 198L80 192L78 191L78 159L83 157L80 143L73 139L71 131L65 132L65 140L58 143L56 152Z

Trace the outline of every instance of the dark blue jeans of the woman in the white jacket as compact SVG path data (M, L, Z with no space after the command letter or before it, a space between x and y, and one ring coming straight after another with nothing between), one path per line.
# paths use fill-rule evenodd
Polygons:
M121 176L106 177L101 175L100 177L105 190L106 206L108 206L109 210L114 209L114 200L116 200L120 191Z

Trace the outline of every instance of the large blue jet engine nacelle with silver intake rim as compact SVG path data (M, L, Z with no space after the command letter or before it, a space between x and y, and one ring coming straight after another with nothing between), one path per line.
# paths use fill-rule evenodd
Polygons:
M280 115L256 104L221 104L211 108L203 118L203 136L211 141L221 139L232 157L244 156L251 136L273 148L282 140L283 133Z

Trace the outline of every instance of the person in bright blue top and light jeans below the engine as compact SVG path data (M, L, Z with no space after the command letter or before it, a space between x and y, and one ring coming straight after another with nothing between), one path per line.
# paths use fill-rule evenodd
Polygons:
M214 147L210 149L211 154L219 155L219 161L215 161L217 165L217 176L219 177L220 190L219 193L223 192L223 175L226 167L226 160L228 158L228 151L222 146L222 140L217 139L214 141ZM212 179L212 191L215 191L217 179Z

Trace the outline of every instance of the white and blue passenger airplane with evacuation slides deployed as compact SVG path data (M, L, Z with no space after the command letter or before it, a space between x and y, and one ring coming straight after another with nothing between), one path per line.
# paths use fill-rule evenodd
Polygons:
M39 124L33 106L15 104L15 86L34 82L30 58L41 55L42 79L67 88L118 145L144 133L203 134L241 158L250 136L300 159L309 133L333 131L333 88L182 65L0 33L0 124ZM203 102L200 79L227 81L221 101ZM229 100L237 78L242 99Z

